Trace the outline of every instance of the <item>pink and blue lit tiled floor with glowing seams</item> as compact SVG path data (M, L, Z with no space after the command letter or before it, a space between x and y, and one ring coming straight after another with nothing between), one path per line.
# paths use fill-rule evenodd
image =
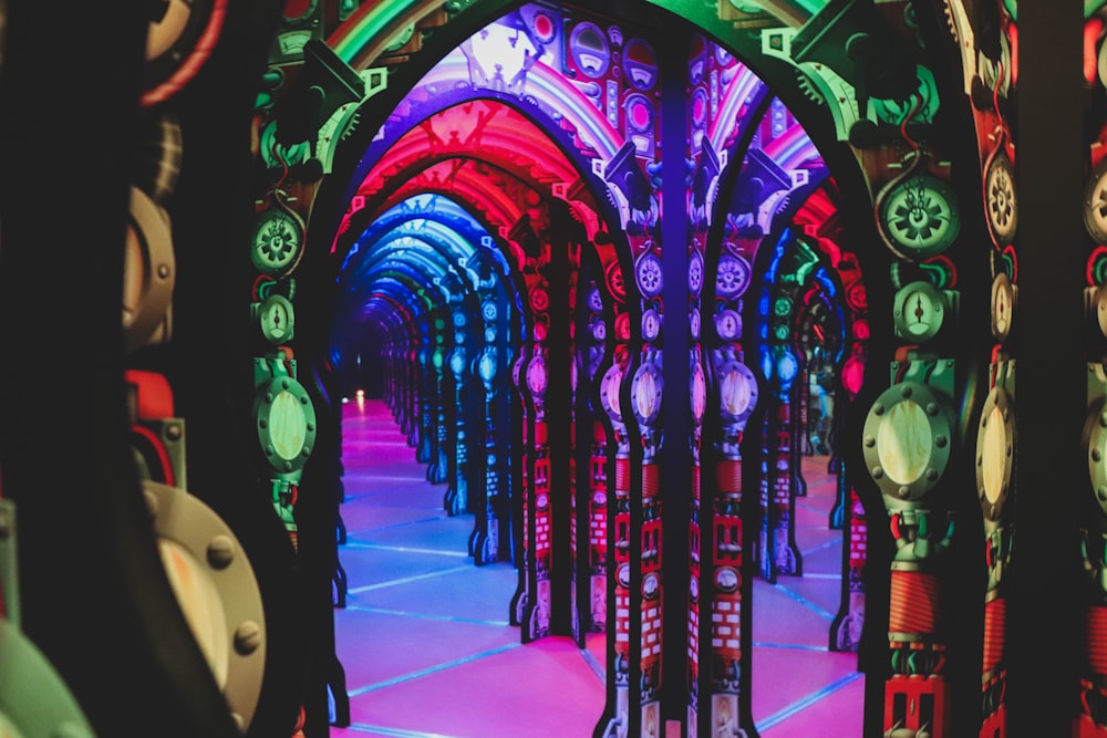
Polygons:
M349 581L334 611L352 724L337 738L588 738L603 710L604 643L519 644L507 607L517 573L475 567L472 516L448 517L381 401L344 405ZM827 651L838 609L841 533L827 529L834 480L805 459L797 501L803 578L754 584L754 717L763 738L861 735L852 654ZM827 732L830 730L830 732Z

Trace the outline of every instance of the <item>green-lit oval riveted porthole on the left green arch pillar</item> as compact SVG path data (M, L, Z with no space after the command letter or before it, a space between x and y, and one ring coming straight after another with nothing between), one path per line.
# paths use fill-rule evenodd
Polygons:
M254 416L269 466L284 474L302 469L315 444L315 408L303 385L275 377L258 389Z

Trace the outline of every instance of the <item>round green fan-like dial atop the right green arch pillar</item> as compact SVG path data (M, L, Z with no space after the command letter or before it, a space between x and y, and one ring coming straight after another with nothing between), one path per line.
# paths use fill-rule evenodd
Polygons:
M961 231L953 190L927 174L889 183L877 198L877 226L888 247L904 259L928 259Z

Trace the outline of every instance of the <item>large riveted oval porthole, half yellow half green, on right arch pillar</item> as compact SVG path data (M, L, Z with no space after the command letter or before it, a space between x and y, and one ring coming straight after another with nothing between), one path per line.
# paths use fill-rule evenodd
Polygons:
M921 382L886 389L861 432L865 466L891 501L917 502L938 485L950 460L952 413Z

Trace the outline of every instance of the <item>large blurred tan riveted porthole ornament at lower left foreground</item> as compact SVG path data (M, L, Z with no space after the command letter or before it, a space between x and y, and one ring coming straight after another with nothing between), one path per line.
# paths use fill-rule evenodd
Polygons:
M245 730L266 664L265 607L254 568L234 531L198 497L148 480L143 492L169 584Z

